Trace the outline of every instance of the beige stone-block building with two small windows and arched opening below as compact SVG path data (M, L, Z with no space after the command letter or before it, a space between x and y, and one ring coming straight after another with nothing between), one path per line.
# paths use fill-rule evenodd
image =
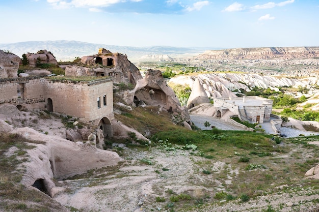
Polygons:
M81 79L81 78L79 78ZM50 77L0 79L0 104L11 103L18 109L40 108L78 117L91 122L112 137L113 81L111 77L95 80L58 80Z

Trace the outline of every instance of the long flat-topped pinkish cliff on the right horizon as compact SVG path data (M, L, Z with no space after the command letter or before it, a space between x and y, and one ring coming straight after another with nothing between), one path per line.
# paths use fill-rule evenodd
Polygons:
M319 47L264 47L207 50L200 59L269 59L269 58L313 58L319 56Z

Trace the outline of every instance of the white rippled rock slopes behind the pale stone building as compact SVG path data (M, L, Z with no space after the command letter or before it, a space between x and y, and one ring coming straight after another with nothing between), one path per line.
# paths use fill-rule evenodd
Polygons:
M278 87L296 87L302 86L309 89L308 95L318 95L318 90L315 89L319 85L319 80L316 77L307 78L288 78L263 76L260 74L233 74L233 73L214 73L200 75L178 75L170 79L170 86L176 84L193 87L195 79L198 78L200 84L205 89L208 98L218 97L236 97L236 93L241 93L241 89L247 92L253 87L263 89L271 88L279 90ZM303 94L297 94L303 95Z

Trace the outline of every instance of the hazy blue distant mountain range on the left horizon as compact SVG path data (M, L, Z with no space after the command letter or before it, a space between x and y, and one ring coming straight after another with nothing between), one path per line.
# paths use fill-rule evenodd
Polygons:
M131 62L137 62L143 59L144 55L197 55L211 48L203 47L171 47L171 46L153 46L153 47L132 47L132 46L115 46L107 44L86 43L79 41L28 41L10 44L0 44L1 50L10 51L19 57L23 53L36 53L39 50L46 49L55 55L58 62L60 60L73 60L75 57L93 55L98 52L99 48L105 48L111 52L126 54ZM218 48L214 48L218 49ZM145 58L145 57L144 57Z

